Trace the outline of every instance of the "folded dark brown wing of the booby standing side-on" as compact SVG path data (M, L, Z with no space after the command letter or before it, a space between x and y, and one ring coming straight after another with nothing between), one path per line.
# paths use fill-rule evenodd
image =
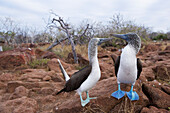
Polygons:
M78 72L74 73L71 78L65 84L65 91L73 91L78 89L81 84L88 78L91 73L92 66L88 65Z

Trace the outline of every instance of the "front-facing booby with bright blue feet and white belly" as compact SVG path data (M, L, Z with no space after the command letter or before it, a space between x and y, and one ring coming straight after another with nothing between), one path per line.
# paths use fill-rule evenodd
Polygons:
M126 93L130 100L139 100L138 94L133 91L133 86L142 72L142 63L139 58L136 58L141 47L141 39L135 33L111 34L111 36L124 39L128 43L122 50L121 56L118 56L115 61L118 90L113 92L111 96L120 99ZM122 91L120 83L130 83L131 90L129 92Z

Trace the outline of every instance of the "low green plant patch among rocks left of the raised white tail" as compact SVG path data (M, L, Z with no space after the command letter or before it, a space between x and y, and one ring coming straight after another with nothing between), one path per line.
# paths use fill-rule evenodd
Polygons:
M46 67L50 59L36 59L28 63L31 68Z

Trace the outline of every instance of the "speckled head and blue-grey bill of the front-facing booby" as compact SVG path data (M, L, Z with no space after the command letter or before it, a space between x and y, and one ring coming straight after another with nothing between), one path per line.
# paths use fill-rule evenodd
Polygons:
M136 53L138 53L141 48L141 39L136 33L111 34L111 36L126 40L129 45L134 47Z

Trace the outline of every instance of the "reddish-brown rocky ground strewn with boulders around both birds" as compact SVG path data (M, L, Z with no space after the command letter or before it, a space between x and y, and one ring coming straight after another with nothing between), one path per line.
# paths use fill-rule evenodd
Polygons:
M65 81L57 58L52 52L40 49L14 49L0 53L0 113L169 113L170 112L170 42L143 44L137 57L142 60L143 71L134 90L139 101L131 102L126 96L120 100L111 97L117 90L113 58L120 52L114 47L99 51L98 58L102 77L90 90L97 97L81 107L76 92L55 95ZM69 59L61 63L71 76L78 71ZM88 59L79 56L80 65ZM28 64L35 59L50 59L46 67L31 69ZM121 89L130 90L130 85L121 84ZM85 94L83 95L85 98Z

